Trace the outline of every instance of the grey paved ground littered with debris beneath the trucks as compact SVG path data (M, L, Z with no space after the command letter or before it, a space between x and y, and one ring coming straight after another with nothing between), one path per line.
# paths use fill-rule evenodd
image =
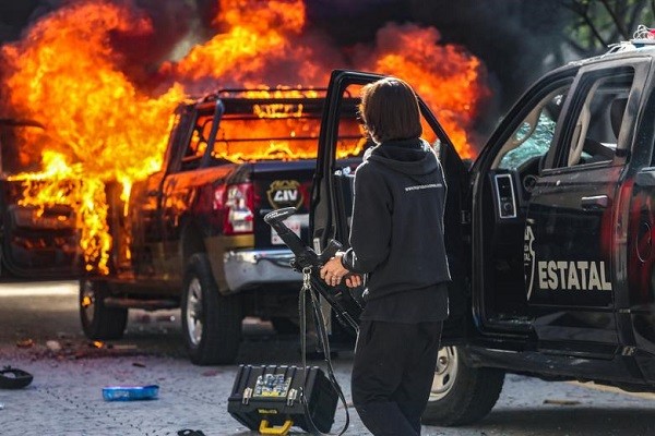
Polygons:
M255 319L245 330L240 363L299 363L295 338L278 337L267 323ZM350 362L350 353L335 361L348 401ZM81 334L73 284L0 286L0 365L34 375L25 389L0 390L2 436L177 435L182 428L202 429L207 436L258 434L227 413L237 365L189 363L176 311L134 312L123 340L96 348ZM159 386L156 400L108 402L102 397L105 386L151 384ZM350 417L347 435L367 435L353 410ZM344 419L340 407L333 431ZM655 401L650 395L516 375L507 377L497 407L476 426L424 427L428 436L653 434Z

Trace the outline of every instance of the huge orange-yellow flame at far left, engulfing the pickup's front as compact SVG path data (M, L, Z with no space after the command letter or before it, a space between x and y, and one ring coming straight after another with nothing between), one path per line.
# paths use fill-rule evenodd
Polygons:
M25 181L21 203L74 207L87 268L100 272L108 271L111 246L104 183L120 181L127 196L133 180L159 168L172 110L183 98L179 87L150 98L118 69L109 34L151 31L124 8L90 1L48 15L1 52L9 104L49 126L56 141L48 152L59 153L44 154L40 174L17 178ZM44 180L51 181L47 189Z

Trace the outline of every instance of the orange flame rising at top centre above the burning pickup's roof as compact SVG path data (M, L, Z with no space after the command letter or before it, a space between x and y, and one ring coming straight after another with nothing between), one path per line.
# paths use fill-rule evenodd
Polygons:
M319 68L312 48L297 41L306 22L302 0L221 0L219 10L214 25L227 32L194 47L179 62L164 63L163 73L187 83L209 77L223 86L253 87L293 60L301 83L327 82L330 70Z

